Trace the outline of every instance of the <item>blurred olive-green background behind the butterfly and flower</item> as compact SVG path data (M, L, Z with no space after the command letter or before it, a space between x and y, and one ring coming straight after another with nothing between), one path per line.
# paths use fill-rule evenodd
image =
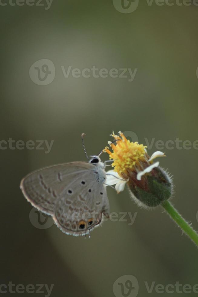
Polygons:
M35 228L29 219L32 206L19 184L32 170L86 161L82 132L89 155L107 145L112 130L132 131L144 144L144 138L197 140L198 6L142 1L134 12L122 13L104 0L54 0L49 9L41 3L0 7L1 140L54 140L48 154L45 149L0 150L1 284L54 284L52 297L111 297L114 282L123 275L137 278L142 297L150 295L144 282L197 284L197 249L160 207L140 209L126 189L117 195L108 188L110 211L137 212L134 224L109 220L85 240L65 235L55 225ZM29 75L41 59L55 66L48 85L34 83ZM67 71L69 65L81 70L93 65L137 68L137 73L132 82L109 75L65 78L61 66ZM148 152L156 150L153 145ZM174 177L172 201L198 229L198 151L176 146L162 151L167 157L160 165ZM4 295L13 294L8 290ZM154 286L152 296L158 295ZM161 295L186 293L174 289Z

